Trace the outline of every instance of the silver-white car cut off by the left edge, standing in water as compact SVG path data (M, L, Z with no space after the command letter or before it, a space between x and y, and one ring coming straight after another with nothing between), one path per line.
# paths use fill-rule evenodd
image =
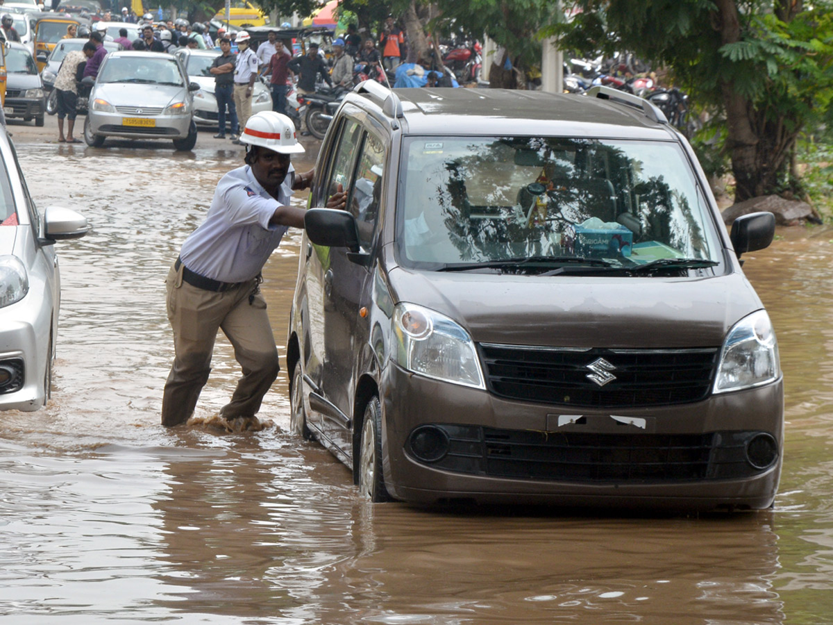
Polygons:
M0 409L37 410L49 398L61 278L53 243L83 237L87 220L32 203L0 133Z

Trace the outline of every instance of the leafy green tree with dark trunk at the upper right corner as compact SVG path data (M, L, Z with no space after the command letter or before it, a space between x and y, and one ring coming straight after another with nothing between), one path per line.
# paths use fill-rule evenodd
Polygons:
M575 0L552 28L568 49L627 49L671 67L726 118L736 201L775 193L796 138L830 117L831 0Z

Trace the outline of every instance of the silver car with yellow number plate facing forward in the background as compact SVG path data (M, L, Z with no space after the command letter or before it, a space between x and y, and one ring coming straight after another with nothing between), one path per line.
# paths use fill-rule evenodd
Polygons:
M172 139L177 150L190 150L197 143L191 92L199 88L170 54L110 52L90 93L84 141Z

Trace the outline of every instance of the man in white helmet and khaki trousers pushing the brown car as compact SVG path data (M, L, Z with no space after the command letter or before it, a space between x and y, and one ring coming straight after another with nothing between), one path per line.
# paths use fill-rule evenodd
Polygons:
M304 227L306 211L289 206L289 198L310 187L315 170L297 174L292 167L291 155L304 148L286 115L253 115L241 139L246 164L217 183L205 221L182 244L165 281L176 354L162 398L167 427L191 417L211 371L218 330L232 343L243 372L220 411L234 422L229 429L257 428L255 415L280 371L261 271L287 228ZM327 203L344 207L344 193Z

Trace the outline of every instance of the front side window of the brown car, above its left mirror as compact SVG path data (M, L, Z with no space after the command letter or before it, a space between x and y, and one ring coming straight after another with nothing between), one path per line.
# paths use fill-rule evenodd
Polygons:
M384 144L372 134L365 133L359 153L356 182L353 183L347 204L356 218L362 248L370 248L372 243L379 214L379 200L382 196L384 166Z

